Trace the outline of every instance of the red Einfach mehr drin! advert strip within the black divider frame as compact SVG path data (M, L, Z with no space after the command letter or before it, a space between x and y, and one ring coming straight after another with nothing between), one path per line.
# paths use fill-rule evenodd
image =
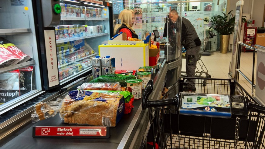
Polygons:
M35 136L107 136L107 127L96 126L36 126Z

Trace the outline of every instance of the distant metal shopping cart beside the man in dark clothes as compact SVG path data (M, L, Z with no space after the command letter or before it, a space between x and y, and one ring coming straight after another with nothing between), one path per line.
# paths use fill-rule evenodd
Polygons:
M198 54L198 60L197 60L197 63L199 63L199 65L201 66L201 69L198 68L198 65L196 66L196 70L195 70L195 77L204 77L204 78L211 78L211 75L208 73L208 69L206 68L206 66L204 65L201 57L202 57L202 54L203 52L205 52L205 49L206 49L206 46L207 46L207 43L209 41L209 39L213 38L214 36L216 36L216 34L212 33L212 32L209 32L209 36L207 36L203 41L202 41L202 45L201 45L201 49L199 51L199 54ZM185 59L185 52L182 53L182 58ZM205 76L203 75L205 74ZM185 71L182 71L181 72L181 76L182 77L187 77L187 74ZM203 86L206 86L206 82L204 82L202 84Z

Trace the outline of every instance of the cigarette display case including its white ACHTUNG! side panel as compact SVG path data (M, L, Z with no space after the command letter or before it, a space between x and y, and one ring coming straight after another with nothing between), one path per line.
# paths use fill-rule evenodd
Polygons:
M45 1L36 2L37 7L42 7L37 12L40 42L44 42L41 51L45 90L61 88L91 74L91 59L98 55L98 45L107 43L110 36L113 36L111 3L98 0L60 0L56 4L59 5L56 9L60 9L60 12L59 17L55 17L59 21L54 18L52 23L45 25L47 13L54 12L54 9L47 9L46 7L51 6L46 5ZM54 23L56 21L58 22ZM55 37L53 42L56 43L56 48L49 45L50 35ZM54 50L49 51L49 47Z

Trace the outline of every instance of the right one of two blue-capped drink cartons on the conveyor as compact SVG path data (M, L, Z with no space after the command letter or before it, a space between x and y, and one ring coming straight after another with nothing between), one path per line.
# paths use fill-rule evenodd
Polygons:
M115 73L115 58L106 56L106 58L101 59L101 74Z

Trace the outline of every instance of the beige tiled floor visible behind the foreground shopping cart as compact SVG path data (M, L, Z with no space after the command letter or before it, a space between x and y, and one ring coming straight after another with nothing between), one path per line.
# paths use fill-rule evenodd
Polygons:
M208 74L211 75L211 78L216 79L228 79L229 73L229 66L231 61L231 52L227 54L221 54L219 51L212 52L210 56L202 56L201 60L205 64ZM256 61L257 61L257 53L255 59L255 66L254 66L254 82L256 82ZM183 66L185 66L185 62ZM198 64L197 64L198 66ZM199 70L201 69L200 66ZM185 67L182 67L182 70ZM241 60L240 60L240 70L244 73L244 75L252 80L252 71L253 71L253 52L241 52ZM248 92L251 93L251 84L241 75L239 74L239 84ZM217 83L219 84L219 83ZM255 83L254 83L255 84ZM205 93L224 93L229 92L227 87L219 87L215 85L215 83L207 82L206 87L202 87L199 89L200 92Z

